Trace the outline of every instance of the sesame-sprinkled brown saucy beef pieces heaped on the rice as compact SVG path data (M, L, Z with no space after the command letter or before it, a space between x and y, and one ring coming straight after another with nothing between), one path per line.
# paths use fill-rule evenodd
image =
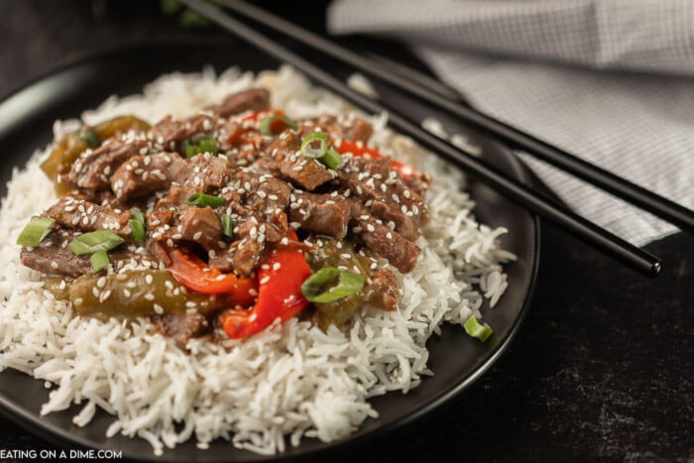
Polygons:
M93 274L89 258L74 255L68 244L105 229L125 240L109 252L109 273L165 269L166 249L183 246L219 271L253 277L268 246L286 242L294 229L302 236L346 240L359 259L371 259L363 300L395 308L397 278L375 262L385 258L401 272L413 269L420 253L414 240L428 221L424 189L405 183L389 158L346 156L330 169L302 155L303 137L316 130L328 135L328 144L368 142L373 129L367 121L321 116L300 121L297 131L267 136L247 117L268 105L266 90L248 90L187 119L165 117L87 149L60 178L73 191L43 214L55 219L48 237L35 249L23 249L22 262L63 277ZM187 140L198 137L214 137L218 152L187 158ZM191 205L193 194L215 196L221 204ZM129 225L133 207L146 214L144 242L135 241ZM223 216L232 230L223 229ZM189 312L152 319L157 330L182 344L212 325L207 314Z

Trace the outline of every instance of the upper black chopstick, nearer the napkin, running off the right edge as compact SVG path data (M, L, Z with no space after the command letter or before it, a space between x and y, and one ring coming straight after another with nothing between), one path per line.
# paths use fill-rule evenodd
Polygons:
M218 0L218 3L256 22L269 26L285 35L289 35L314 49L318 49L332 56L332 58L347 62L349 65L359 69L365 74L385 81L408 94L416 96L426 103L430 103L432 106L445 110L450 115L459 117L468 124L475 126L478 131L485 135L496 140L501 140L512 148L527 151L536 158L562 169L577 178L581 178L628 203L636 205L638 208L646 210L674 224L682 230L686 230L690 233L694 232L694 211L684 208L682 205L670 201L654 192L646 190L635 183L629 182L629 180L616 176L590 162L582 160L557 146L552 146L533 135L523 133L509 124L493 119L493 117L483 112L469 108L468 106L463 106L459 103L459 99L450 99L447 95L450 91L441 94L438 85L435 87L436 90L432 91L425 85L421 85L421 82L418 83L416 81L417 79L413 79L412 76L403 77L400 74L396 74L386 67L377 65L368 58L363 58L357 53L325 39L325 37L307 31L300 26L287 22L245 1Z

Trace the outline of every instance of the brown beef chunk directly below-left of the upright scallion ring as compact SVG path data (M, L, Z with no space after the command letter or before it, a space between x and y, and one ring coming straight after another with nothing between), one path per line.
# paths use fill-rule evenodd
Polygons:
M301 138L287 129L266 148L264 158L257 164L260 169L291 180L308 191L335 178L335 171L326 169L319 160L303 157L300 149Z

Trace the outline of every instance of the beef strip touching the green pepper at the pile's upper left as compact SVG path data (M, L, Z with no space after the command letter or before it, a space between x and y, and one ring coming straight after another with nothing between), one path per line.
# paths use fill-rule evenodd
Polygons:
M144 134L112 137L94 151L87 149L82 153L60 181L82 190L105 190L110 186L108 177L123 162L148 151L149 144Z

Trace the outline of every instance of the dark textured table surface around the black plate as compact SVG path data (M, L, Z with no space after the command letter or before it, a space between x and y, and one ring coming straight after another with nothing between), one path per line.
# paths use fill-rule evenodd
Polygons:
M323 28L321 3L260 3ZM218 34L184 29L156 3L58 6L0 0L0 96L102 49ZM694 237L648 246L666 265L646 280L542 226L534 303L509 351L457 400L331 460L694 461ZM52 446L0 419L0 448Z

